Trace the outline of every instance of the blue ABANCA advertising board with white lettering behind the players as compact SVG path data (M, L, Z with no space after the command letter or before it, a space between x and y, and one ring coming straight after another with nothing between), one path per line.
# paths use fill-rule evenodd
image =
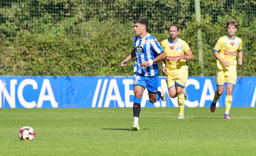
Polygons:
M165 76L159 86L167 94L166 101L150 103L147 90L142 107L178 107L177 97L170 98ZM215 77L189 76L189 98L186 107L209 107L216 91ZM256 77L237 77L232 107L254 107ZM1 76L0 108L68 108L68 107L132 107L133 76ZM225 107L226 90L217 107Z

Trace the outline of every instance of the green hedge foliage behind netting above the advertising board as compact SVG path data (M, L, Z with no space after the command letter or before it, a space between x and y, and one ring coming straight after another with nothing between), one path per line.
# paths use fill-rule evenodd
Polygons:
M181 26L179 37L195 56L188 62L190 76L202 72L197 29L202 29L204 75L214 76L213 47L226 35L226 21L237 19L244 54L237 74L255 76L256 2L201 0L200 8L197 23L192 0L3 0L0 75L133 75L134 59L120 64L133 49L133 21L143 17L159 42L168 38L170 24Z

